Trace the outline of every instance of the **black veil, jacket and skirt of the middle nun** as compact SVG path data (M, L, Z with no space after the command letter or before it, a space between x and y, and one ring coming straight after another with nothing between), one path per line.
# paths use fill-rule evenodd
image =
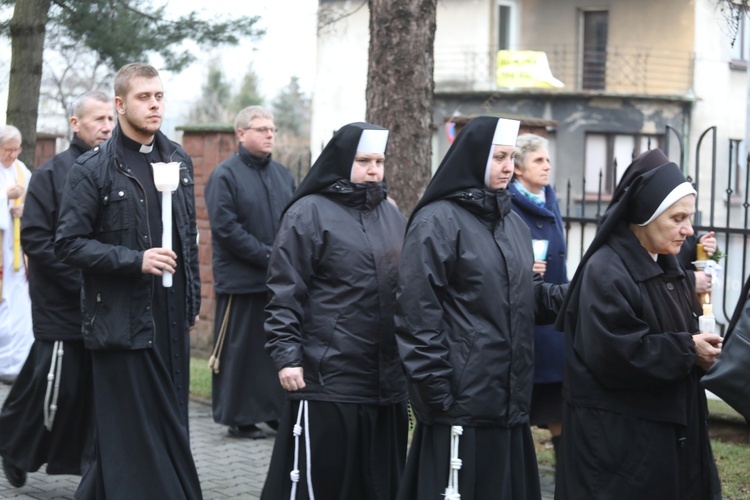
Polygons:
M531 234L510 193L485 187L497 124L478 117L464 127L404 240L396 333L417 427L401 500L443 498L453 425L463 426L462 498L541 496L529 428L533 330L554 320L566 287L532 272Z

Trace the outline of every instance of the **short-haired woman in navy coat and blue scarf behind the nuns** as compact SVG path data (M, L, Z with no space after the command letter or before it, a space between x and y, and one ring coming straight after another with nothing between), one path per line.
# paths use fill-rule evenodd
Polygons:
M515 174L508 189L513 193L512 209L529 226L531 237L548 242L546 258L535 257L534 272L542 274L547 283L561 284L568 282L565 235L557 196L549 185L552 166L547 146L544 137L535 134L518 136ZM550 430L555 462L560 460L564 365L562 332L555 330L554 325L537 325L534 328L534 389L529 420L531 425Z

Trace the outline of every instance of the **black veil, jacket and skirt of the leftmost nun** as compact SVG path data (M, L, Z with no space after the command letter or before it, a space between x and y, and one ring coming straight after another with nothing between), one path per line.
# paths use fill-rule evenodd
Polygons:
M408 419L393 315L405 219L384 182L350 181L366 129L384 130L354 123L336 132L287 206L271 252L266 350L277 370L302 367L306 387L287 393L266 500L290 498L292 470L293 498L309 498L311 487L327 500L390 500L398 489ZM298 421L300 407L308 414Z

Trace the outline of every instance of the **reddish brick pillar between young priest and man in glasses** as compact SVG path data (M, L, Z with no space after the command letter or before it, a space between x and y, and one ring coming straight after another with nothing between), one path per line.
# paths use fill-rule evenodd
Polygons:
M211 172L237 151L237 137L231 125L213 127L181 127L182 146L195 168L195 210L198 219L198 258L201 277L201 311L198 326L190 333L195 352L207 354L213 346L215 317L214 277L211 268L211 227L204 191Z

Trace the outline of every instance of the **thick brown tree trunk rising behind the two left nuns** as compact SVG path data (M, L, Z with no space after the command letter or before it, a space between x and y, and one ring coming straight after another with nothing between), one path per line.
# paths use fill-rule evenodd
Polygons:
M390 129L389 194L410 214L431 174L436 0L369 0L367 121Z

